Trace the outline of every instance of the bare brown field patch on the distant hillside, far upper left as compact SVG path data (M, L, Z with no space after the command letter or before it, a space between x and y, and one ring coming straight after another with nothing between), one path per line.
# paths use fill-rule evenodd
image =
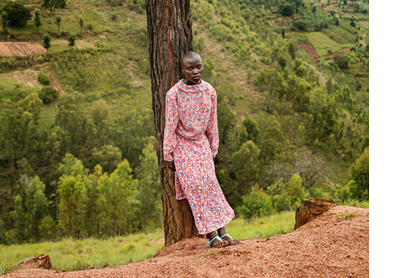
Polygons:
M38 42L0 42L0 57L23 57L46 53L47 50Z

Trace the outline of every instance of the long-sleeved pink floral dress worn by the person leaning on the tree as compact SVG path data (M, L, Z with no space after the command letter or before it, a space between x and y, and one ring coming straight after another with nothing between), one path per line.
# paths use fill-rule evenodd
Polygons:
M187 199L199 234L234 217L215 175L218 152L217 95L204 80L178 81L165 99L164 160L175 163L176 199Z

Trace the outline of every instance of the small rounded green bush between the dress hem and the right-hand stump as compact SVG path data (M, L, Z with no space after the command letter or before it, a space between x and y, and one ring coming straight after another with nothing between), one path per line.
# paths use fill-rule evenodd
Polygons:
M253 186L251 192L243 197L239 212L245 219L270 215L273 213L271 198L258 185Z

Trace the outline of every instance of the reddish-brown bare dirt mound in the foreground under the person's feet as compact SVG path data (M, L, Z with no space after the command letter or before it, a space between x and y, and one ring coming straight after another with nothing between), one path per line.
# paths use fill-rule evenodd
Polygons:
M5 277L368 277L369 210L338 206L294 232L210 249L185 239L153 259L59 273L18 270Z

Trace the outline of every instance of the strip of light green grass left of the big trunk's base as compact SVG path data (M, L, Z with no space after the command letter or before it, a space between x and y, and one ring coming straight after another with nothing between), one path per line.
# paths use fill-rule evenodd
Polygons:
M63 239L59 242L0 245L0 271L3 269L4 273L16 262L40 254L50 256L54 269L67 271L87 269L89 266L101 268L105 265L137 262L153 257L164 245L162 237L163 232L158 229L153 233L138 233L106 240Z

